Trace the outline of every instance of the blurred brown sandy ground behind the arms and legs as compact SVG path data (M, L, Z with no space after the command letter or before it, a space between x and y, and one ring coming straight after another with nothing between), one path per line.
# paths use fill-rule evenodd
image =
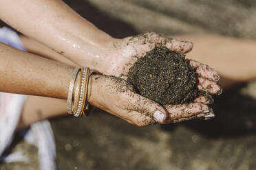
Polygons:
M147 31L256 38L253 1L66 2L118 38ZM229 88L215 98L215 119L174 125L135 127L102 110L94 110L86 119L52 119L57 167L61 170L256 169L255 99L256 82ZM22 148L30 164L5 164L0 169L39 169L36 149L19 138L16 143L12 151Z

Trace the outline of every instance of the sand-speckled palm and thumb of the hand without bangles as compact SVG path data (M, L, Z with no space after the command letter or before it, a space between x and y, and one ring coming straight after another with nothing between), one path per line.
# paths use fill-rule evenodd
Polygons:
M166 46L171 51L177 51L179 53L187 53L193 48L191 42L164 38L155 33L139 34L137 36L117 40L113 43L109 54L109 56L111 56L111 63L107 70L107 75L125 78L131 66L133 66L139 58L145 56L145 54L154 47L161 45Z

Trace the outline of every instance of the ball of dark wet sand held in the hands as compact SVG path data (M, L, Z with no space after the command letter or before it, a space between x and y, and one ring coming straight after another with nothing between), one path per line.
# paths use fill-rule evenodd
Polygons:
M128 82L158 104L187 104L198 96L197 77L185 56L161 46L129 69Z

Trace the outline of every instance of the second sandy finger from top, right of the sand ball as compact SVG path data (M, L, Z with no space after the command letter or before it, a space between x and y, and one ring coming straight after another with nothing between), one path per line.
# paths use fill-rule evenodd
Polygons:
M222 88L217 82L213 82L211 80L204 79L202 77L198 77L198 89L199 90L204 90L207 93L210 93L212 95L220 95L222 94Z

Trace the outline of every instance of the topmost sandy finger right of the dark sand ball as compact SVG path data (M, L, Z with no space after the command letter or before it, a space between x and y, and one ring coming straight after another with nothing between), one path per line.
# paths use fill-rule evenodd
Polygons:
M220 75L218 75L217 72L213 70L210 66L202 64L195 60L189 60L189 64L195 67L195 73L198 73L200 77L204 77L215 82L220 80Z

